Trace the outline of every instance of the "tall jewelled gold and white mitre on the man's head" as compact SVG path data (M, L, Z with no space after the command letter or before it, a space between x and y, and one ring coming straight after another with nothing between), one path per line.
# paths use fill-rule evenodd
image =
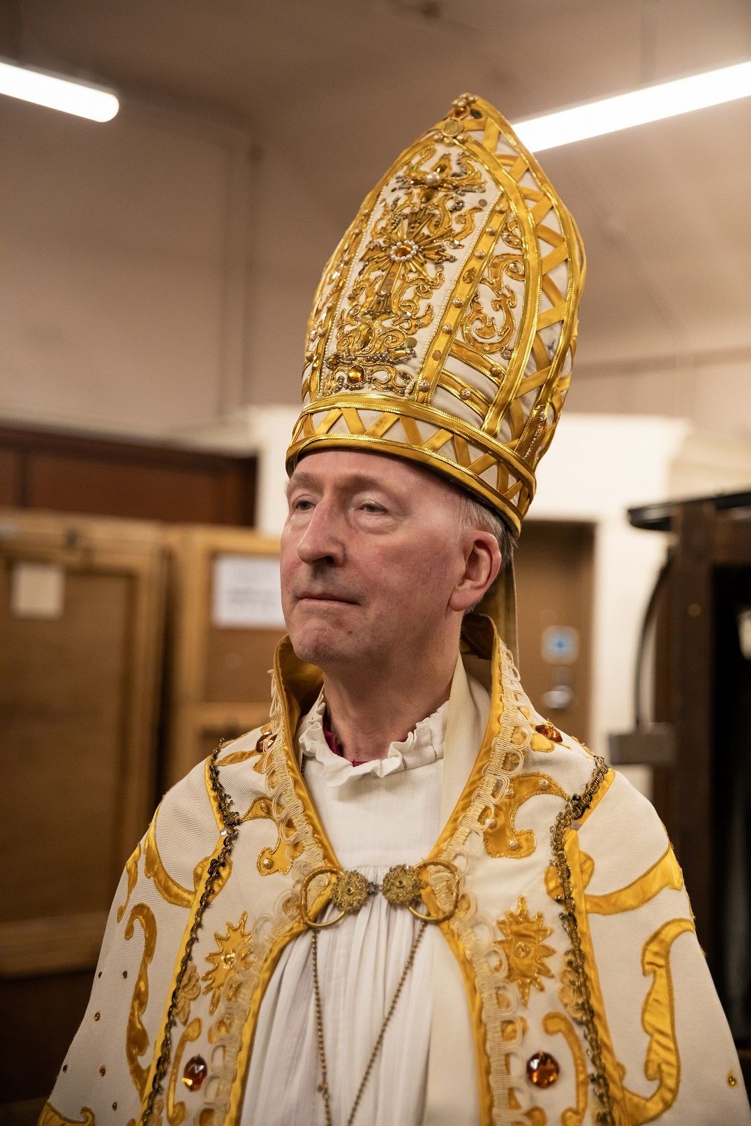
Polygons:
M312 449L397 454L515 534L569 388L584 252L539 164L464 95L367 196L311 313L292 472Z

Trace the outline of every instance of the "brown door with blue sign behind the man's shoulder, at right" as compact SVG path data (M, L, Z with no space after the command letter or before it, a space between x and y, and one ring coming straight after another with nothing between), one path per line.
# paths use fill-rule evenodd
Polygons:
M589 738L593 528L589 524L527 520L515 557L519 613L519 665L525 691L543 715L569 734ZM579 654L569 665L542 653L543 631L572 626ZM573 700L546 707L545 692L566 680Z

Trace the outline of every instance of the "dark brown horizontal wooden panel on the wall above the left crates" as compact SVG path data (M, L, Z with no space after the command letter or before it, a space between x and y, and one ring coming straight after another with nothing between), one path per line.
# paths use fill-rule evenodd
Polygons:
M3 482L3 502L24 508L171 524L253 522L252 457L0 428L0 495Z

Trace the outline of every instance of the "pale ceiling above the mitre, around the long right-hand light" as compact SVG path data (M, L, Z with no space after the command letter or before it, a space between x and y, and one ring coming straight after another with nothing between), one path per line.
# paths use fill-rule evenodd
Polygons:
M15 46L249 127L343 229L463 90L519 120L751 59L751 3L25 0ZM750 127L748 98L543 154L589 259L581 372L751 357Z

